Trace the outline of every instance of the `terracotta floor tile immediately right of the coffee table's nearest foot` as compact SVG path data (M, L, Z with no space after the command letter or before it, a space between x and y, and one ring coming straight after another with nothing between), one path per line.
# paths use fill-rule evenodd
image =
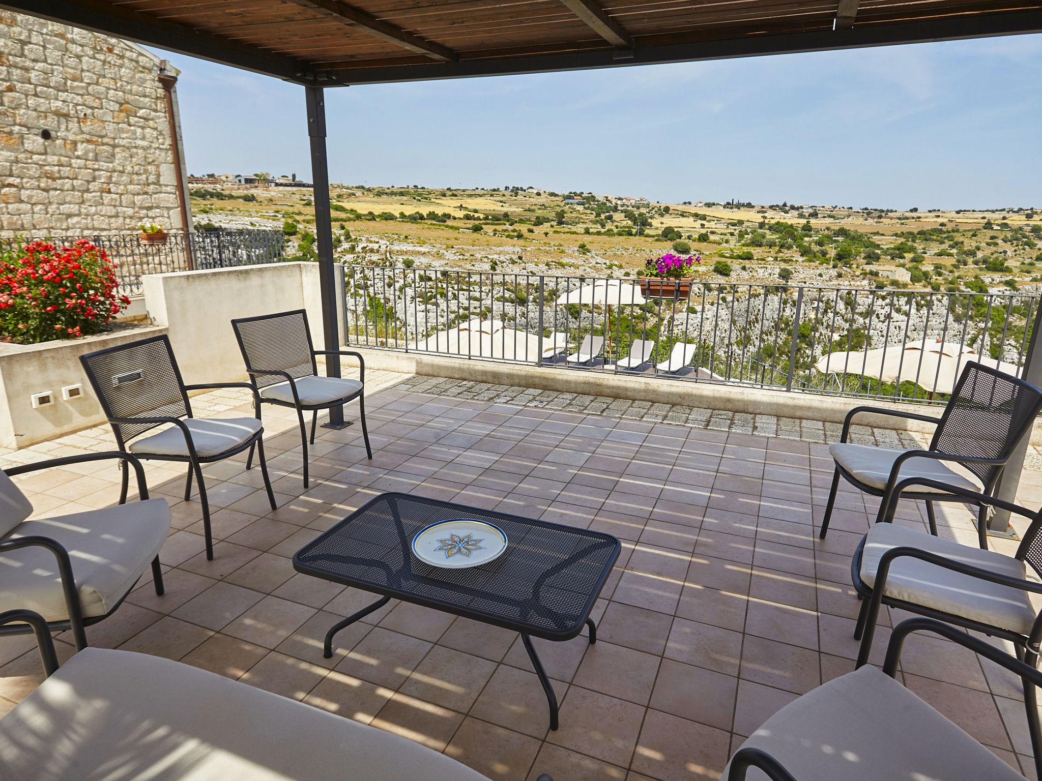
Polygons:
M645 709L625 700L572 686L561 706L561 726L547 740L605 762L627 766Z

